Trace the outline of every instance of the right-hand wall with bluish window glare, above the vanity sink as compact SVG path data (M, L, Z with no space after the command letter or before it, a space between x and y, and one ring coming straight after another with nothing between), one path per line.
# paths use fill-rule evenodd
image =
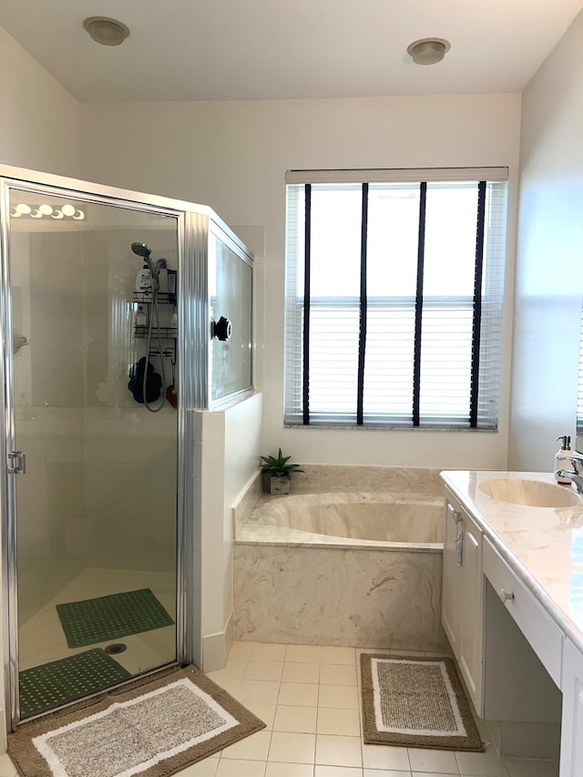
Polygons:
M583 13L523 96L509 466L574 435L583 300Z

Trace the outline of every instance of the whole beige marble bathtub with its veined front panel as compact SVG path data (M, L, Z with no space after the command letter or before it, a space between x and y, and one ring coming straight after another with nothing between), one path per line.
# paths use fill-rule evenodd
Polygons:
M261 497L237 521L234 637L447 649L441 491Z

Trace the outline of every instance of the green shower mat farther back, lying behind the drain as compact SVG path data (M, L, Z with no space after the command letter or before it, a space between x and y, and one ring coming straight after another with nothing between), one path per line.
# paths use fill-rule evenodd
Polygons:
M174 621L149 588L57 604L69 648L171 626Z

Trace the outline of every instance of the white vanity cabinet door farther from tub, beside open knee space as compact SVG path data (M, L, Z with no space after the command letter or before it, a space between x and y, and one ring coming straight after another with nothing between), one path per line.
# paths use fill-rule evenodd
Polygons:
M478 713L482 710L484 657L484 577L482 575L482 535L474 521L464 515L463 583L459 665L467 690Z

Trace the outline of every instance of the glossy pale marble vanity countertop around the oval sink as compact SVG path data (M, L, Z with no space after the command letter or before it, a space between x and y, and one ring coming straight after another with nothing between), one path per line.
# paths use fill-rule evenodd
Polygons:
M555 484L552 473L455 471L441 476L508 566L583 652L583 499L576 506L532 507L494 499L479 488L494 478Z

